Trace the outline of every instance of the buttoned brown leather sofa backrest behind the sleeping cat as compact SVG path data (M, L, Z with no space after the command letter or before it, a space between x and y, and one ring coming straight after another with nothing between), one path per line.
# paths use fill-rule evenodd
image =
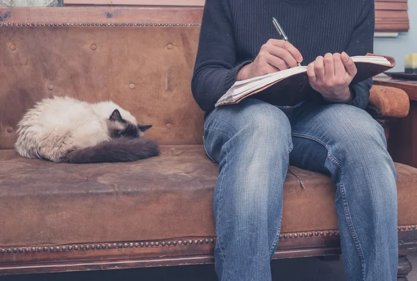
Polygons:
M201 8L1 8L0 148L36 101L113 100L161 144L202 144L190 90ZM4 18L3 16L0 17Z

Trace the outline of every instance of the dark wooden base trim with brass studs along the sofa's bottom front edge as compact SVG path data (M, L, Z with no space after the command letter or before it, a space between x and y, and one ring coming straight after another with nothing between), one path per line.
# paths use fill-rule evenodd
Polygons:
M400 255L416 252L416 225L398 230ZM273 259L341 254L337 230L284 233L280 238ZM214 262L214 247L214 237L15 246L1 248L0 275L208 264Z

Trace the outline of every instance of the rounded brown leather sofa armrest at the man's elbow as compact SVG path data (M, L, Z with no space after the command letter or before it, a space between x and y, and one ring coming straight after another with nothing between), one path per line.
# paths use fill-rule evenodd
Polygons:
M381 117L406 117L409 114L410 101L403 90L373 85L368 106Z

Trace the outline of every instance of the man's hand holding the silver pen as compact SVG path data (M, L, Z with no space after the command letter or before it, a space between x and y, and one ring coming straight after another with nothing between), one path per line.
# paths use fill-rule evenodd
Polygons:
M240 69L236 78L246 80L270 74L288 67L296 67L297 62L302 62L302 56L295 46L284 40L270 39L263 44L254 62Z

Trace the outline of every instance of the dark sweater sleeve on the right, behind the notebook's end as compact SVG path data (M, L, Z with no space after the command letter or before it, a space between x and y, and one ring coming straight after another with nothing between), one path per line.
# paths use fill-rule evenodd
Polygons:
M373 53L373 40L375 33L375 4L374 0L363 0L363 9L357 26L355 27L346 53L349 56L365 56ZM368 78L360 83L350 85L354 99L348 104L365 109L369 102L369 92L373 85L373 79Z

